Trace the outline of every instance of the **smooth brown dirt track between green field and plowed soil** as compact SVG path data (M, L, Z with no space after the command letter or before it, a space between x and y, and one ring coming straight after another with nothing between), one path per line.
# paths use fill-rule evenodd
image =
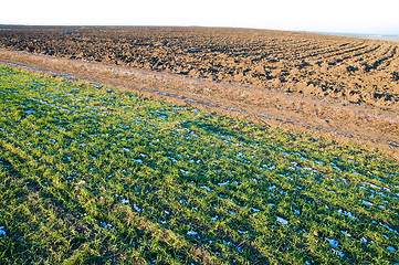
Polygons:
M266 126L377 145L398 156L399 114L295 93L0 49L0 61L32 71L104 83L155 98L249 118Z

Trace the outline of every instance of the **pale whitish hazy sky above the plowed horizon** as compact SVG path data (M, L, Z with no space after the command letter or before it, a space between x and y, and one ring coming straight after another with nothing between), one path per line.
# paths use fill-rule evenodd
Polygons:
M0 24L204 25L399 34L399 0L15 0Z

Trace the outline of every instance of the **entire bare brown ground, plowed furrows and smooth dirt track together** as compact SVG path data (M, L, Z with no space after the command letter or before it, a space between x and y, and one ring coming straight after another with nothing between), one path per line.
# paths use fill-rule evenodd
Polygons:
M53 55L0 50L3 62L399 150L393 43L239 29L17 28L0 31L0 45Z

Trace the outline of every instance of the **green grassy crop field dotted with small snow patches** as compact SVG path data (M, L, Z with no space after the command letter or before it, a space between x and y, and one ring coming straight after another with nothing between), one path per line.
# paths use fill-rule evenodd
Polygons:
M395 264L384 151L0 65L0 264Z

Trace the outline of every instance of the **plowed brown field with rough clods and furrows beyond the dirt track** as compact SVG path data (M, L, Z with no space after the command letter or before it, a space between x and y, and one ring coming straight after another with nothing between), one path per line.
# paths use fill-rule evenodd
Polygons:
M398 108L393 42L211 28L3 28L0 46Z

